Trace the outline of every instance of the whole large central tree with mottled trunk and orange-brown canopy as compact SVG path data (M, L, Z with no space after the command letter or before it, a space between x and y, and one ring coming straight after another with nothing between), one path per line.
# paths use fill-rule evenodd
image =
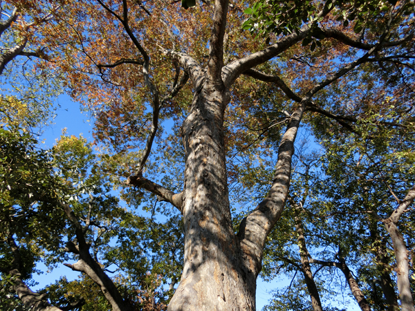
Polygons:
M98 140L124 153L142 147L127 183L183 215L183 273L172 311L255 310L263 249L284 209L305 116L324 115L352 132L376 114L378 126L411 121L403 111L414 98L412 1L266 1L246 11L252 18L244 24L264 39L241 32L246 8L228 0L189 10L164 0L68 1L43 33L49 65L66 73L71 95L95 114ZM256 86L262 82L264 92ZM398 117L382 117L391 109L387 97ZM143 176L161 164L149 165L150 153L154 140L163 141L160 120L168 119L176 138L169 136L163 155L183 151L184 158L176 192ZM232 160L252 146L272 150L261 138L278 123L286 129L268 193L235 234Z

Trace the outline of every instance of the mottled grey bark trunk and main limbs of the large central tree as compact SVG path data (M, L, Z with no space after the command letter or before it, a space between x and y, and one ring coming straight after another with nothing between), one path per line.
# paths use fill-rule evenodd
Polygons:
M297 44L311 27L306 25L273 46L223 66L227 8L227 0L215 1L206 68L201 68L190 55L161 48L185 70L194 89L190 114L181 129L185 147L185 182L180 195L185 231L184 265L181 282L169 303L170 311L255 310L256 279L261 270L266 237L281 216L288 196L294 142L306 106L315 93L365 62L377 50L377 46L371 48L362 58L315 84L304 97L295 97L281 79L250 69ZM124 27L128 33L125 23ZM223 120L230 101L230 88L244 73L276 83L298 103L279 144L271 189L254 211L242 220L235 236L228 198ZM176 206L180 204L180 200L176 200L179 197L172 191L142 176L130 178L129 183L145 188Z

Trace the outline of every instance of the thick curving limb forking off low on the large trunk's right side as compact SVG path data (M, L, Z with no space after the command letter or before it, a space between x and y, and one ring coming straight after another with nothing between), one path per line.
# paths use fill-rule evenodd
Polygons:
M300 32L300 34L301 33L303 32ZM250 215L242 220L238 233L239 238L241 238L241 248L243 249L243 252L246 256L246 265L252 271L255 271L255 273L259 273L261 270L262 251L266 242L266 236L268 236L271 229L274 227L275 223L281 216L286 198L288 196L288 188L291 178L291 158L294 153L294 142L299 128L299 123L302 120L302 115L306 109L306 106L309 105L311 97L313 97L315 93L320 91L325 86L331 84L335 80L339 79L346 73L349 73L350 70L365 62L365 60L370 55L376 53L380 44L385 39L387 33L389 33L389 29L385 30L385 32L380 37L378 44L371 48L371 50L369 50L363 57L356 59L354 62L351 62L351 64L347 66L344 66L344 68L340 69L337 73L330 75L324 79L323 82L315 84L315 86L313 86L313 88L311 88L311 90L308 91L302 98L302 101L299 103L297 109L291 116L291 120L288 123L286 132L284 133L281 144L279 145L278 160L275 167L273 185L266 198L261 203L259 203L258 207L252 211ZM293 38L295 36L299 35L293 33L293 35L290 35L287 38L291 37L291 40L294 40ZM290 42L290 40L288 40L288 42ZM278 46L278 44L276 46ZM273 46L274 50L276 46ZM261 51L261 53L264 53L264 51ZM265 54L267 55L267 53ZM246 64L253 64L254 62L257 62L257 60L261 59L261 57L262 56L255 57L252 59L252 62L248 60L238 63L237 66L232 68L234 72L230 73L230 75L234 75L235 72L240 70L240 68L243 68L243 66ZM244 59L248 58L246 57ZM240 61L241 60L237 62ZM232 64L234 64L234 62ZM248 70L248 68L245 68L243 71L246 70ZM227 81L229 81L229 79Z

